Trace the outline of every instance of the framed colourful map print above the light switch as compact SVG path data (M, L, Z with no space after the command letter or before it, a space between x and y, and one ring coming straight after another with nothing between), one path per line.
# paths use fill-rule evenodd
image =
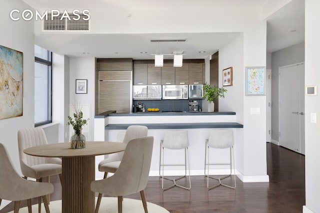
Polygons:
M245 95L265 95L265 67L245 67Z

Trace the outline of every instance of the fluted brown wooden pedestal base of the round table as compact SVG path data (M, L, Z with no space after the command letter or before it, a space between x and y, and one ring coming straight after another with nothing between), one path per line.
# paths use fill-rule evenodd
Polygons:
M94 213L95 157L62 158L62 213Z

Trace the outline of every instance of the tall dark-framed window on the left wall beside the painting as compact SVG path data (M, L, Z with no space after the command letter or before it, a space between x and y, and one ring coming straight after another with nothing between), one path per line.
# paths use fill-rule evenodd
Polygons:
M34 126L51 123L51 52L34 45Z

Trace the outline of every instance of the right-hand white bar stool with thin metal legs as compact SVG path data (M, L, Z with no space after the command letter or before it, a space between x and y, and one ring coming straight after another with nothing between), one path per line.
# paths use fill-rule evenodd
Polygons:
M233 131L232 129L213 129L210 131L209 138L205 140L205 155L204 155L204 174L205 174L205 167L207 167L207 188L209 190L214 189L218 186L228 187L231 189L235 189L235 164L234 164L234 152L233 152ZM209 164L209 150L210 148L215 149L227 149L230 148L230 163L229 164ZM206 151L208 152L207 158L206 158ZM232 155L231 155L232 154ZM222 179L231 177L232 173L232 159L233 159L233 176L234 176L234 187L228 186L221 183ZM230 165L230 174L223 176L222 178L215 178L212 176L209 176L209 165ZM209 178L217 180L219 183L209 187Z

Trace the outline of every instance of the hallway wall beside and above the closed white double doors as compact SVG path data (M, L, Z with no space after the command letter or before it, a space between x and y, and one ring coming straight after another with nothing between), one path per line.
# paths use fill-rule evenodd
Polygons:
M304 61L304 42L271 53L271 139L279 142L279 67Z

